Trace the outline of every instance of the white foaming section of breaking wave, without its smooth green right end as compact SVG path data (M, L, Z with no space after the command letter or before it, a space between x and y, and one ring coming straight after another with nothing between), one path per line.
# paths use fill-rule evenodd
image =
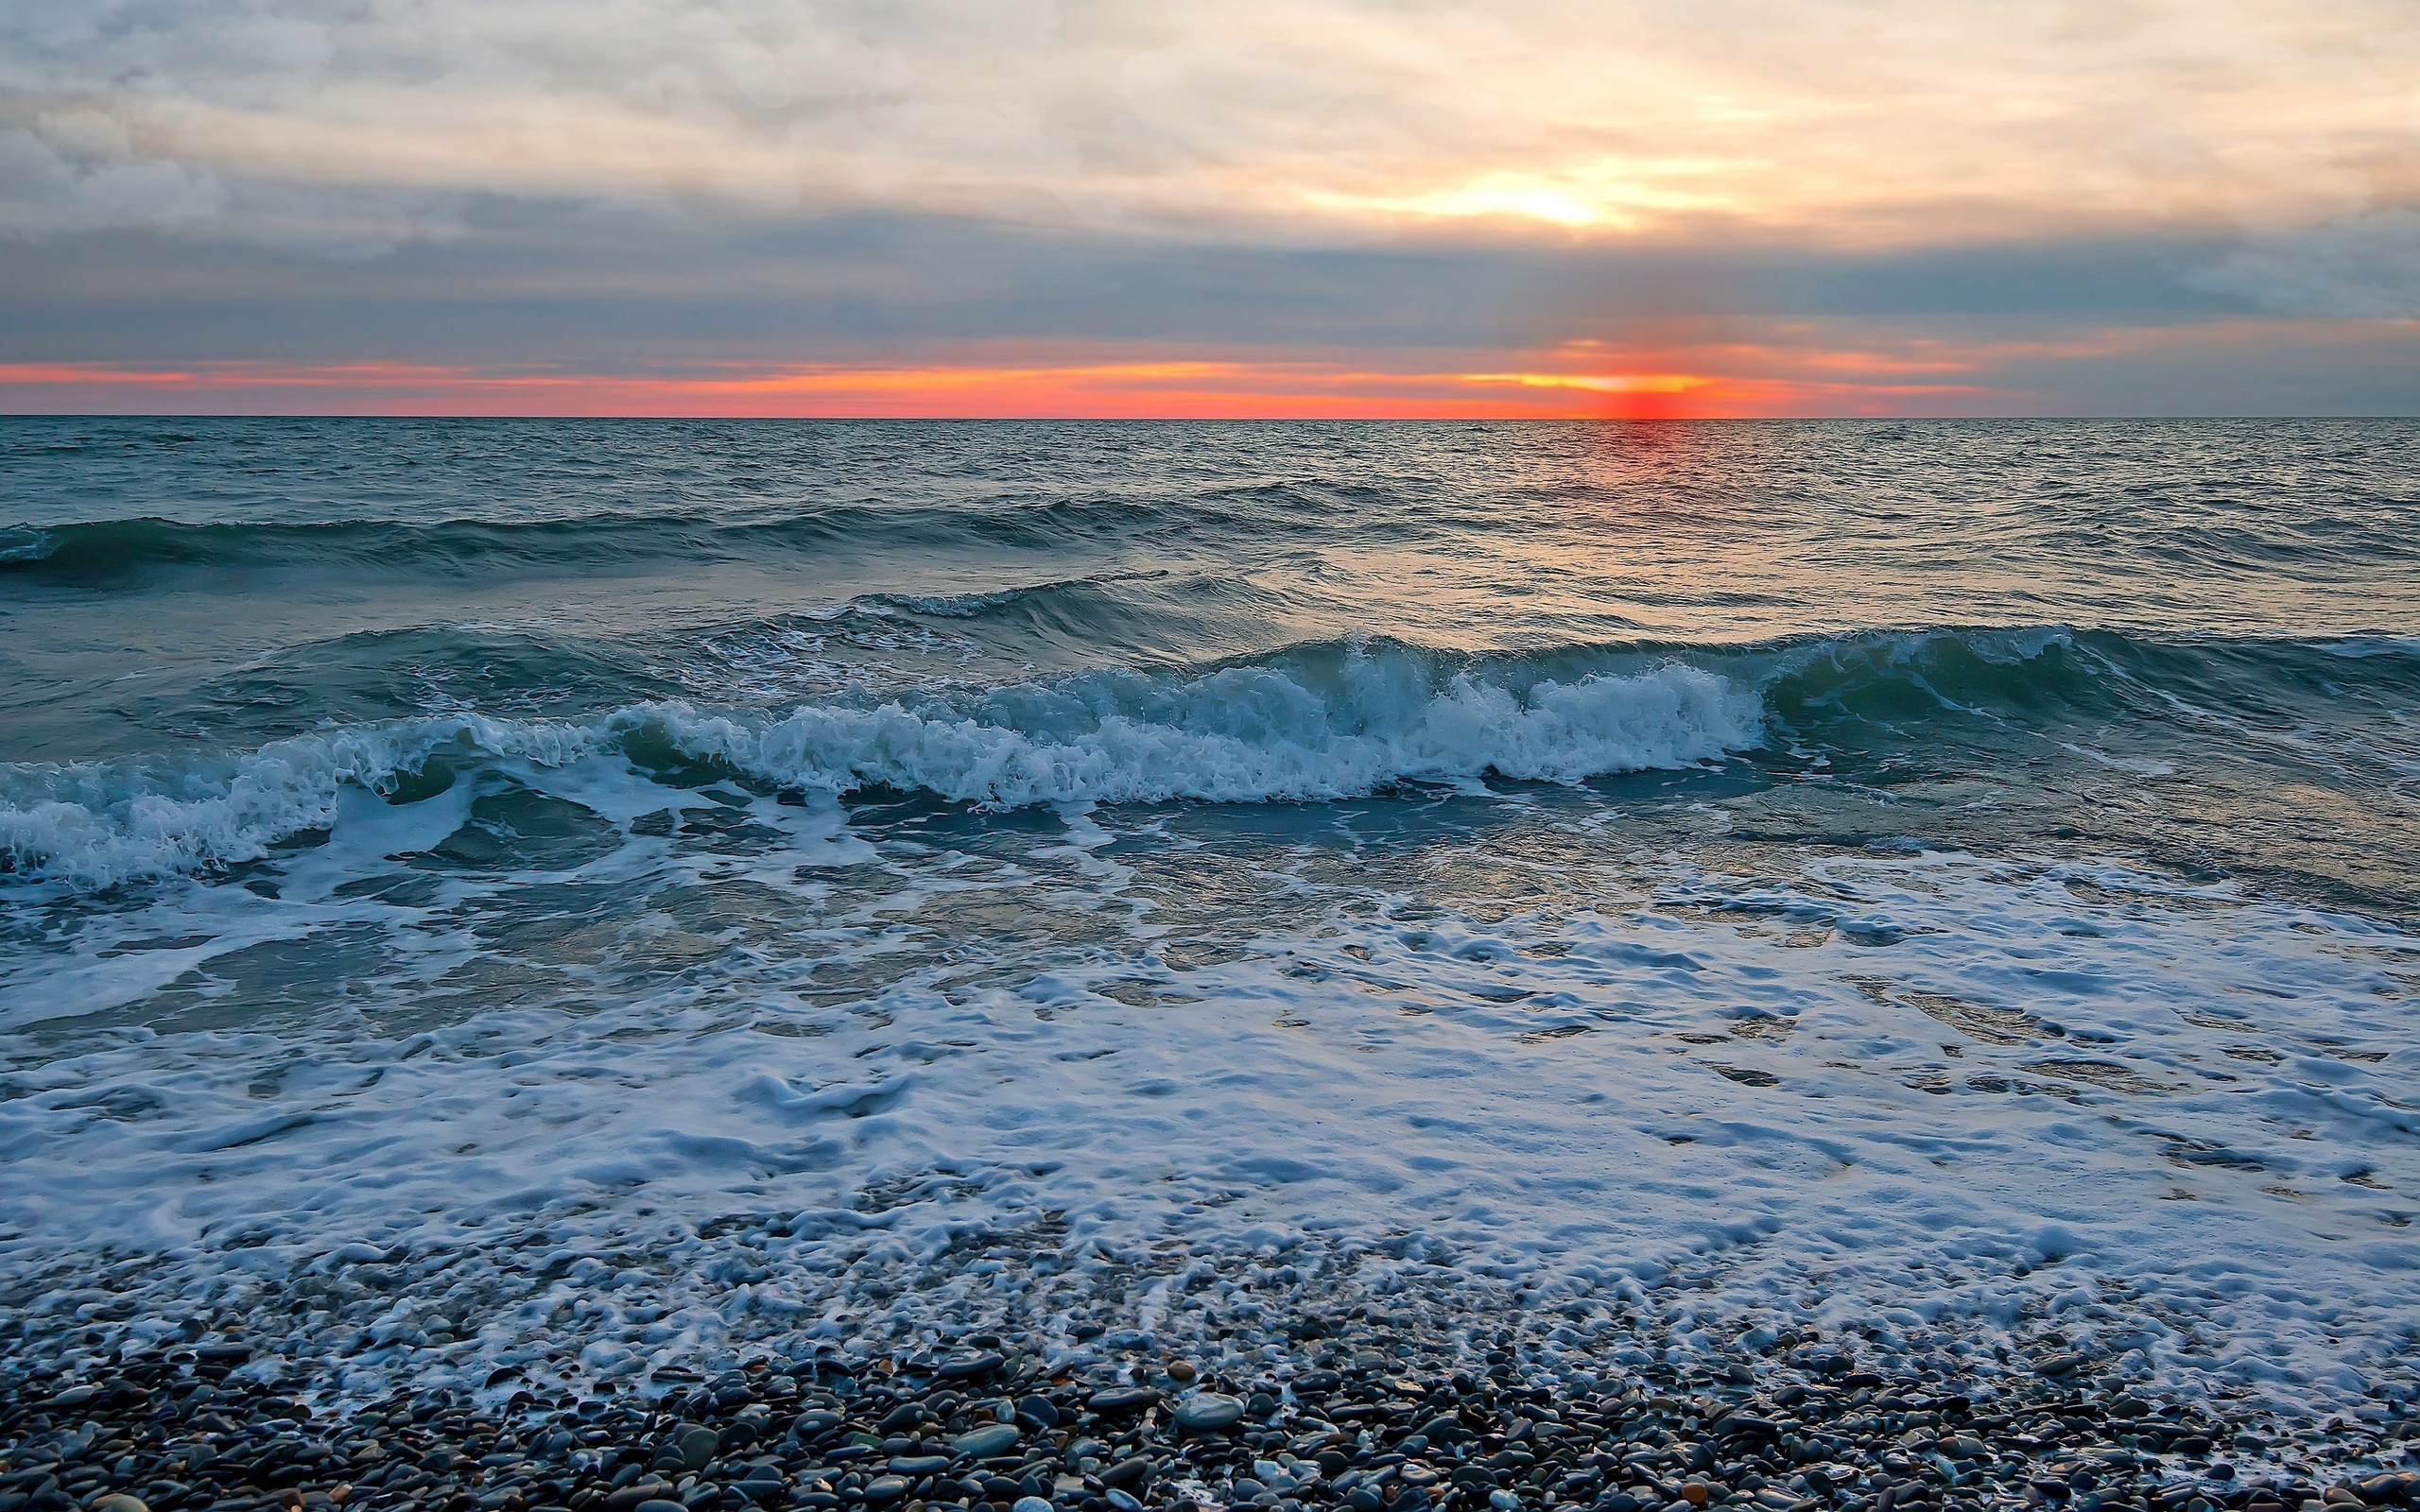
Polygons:
M1193 675L1084 673L973 694L731 714L649 702L588 721L477 714L298 735L213 764L0 767L0 871L80 890L237 866L445 764L719 764L770 784L956 803L1268 803L1488 777L1575 784L1754 748L1750 687L1677 660L1539 677L1408 646L1309 646Z

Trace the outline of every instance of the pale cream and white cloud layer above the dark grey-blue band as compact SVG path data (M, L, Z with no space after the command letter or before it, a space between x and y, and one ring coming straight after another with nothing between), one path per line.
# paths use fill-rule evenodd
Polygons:
M2309 225L2420 189L2415 77L2403 0L0 0L0 97L281 186L206 213L261 237L363 196L1304 244ZM92 223L44 203L0 215Z

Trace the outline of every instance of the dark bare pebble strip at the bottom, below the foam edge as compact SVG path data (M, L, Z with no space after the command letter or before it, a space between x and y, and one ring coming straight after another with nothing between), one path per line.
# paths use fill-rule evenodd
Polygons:
M2251 1403L2062 1355L1989 1384L1885 1377L1815 1340L1534 1379L1435 1369L1358 1328L1258 1374L1043 1372L995 1335L917 1364L757 1355L653 1393L419 1389L312 1408L232 1340L0 1374L0 1512L2311 1512L2420 1502L2408 1391L2277 1432ZM1815 1350L1813 1355L1808 1350ZM1827 1352L1830 1350L1830 1352ZM479 1398L486 1398L484 1406ZM2258 1444L2258 1447L2255 1447ZM1031 1505L1041 1502L1041 1505ZM2309 1505L2309 1507L2306 1507Z

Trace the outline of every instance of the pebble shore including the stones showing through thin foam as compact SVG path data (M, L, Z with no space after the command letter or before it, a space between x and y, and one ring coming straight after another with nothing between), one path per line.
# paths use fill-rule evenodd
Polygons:
M1304 1248L1157 1272L866 1256L854 1333L738 1311L721 1340L620 1377L588 1369L610 1355L581 1326L474 1314L450 1272L387 1306L450 1297L450 1326L486 1347L348 1331L324 1270L249 1309L140 1316L128 1292L73 1321L27 1314L19 1282L0 1299L0 1512L2420 1505L2410 1347L2372 1350L2360 1393L2280 1396L2161 1381L2139 1350L2045 1318L2021 1318L2013 1347L1984 1318L1885 1345L1880 1328L1706 1318L1713 1272L1667 1270L1653 1306L1590 1333L1602 1299L1571 1287ZM970 1309L953 1275L995 1282L995 1304ZM574 1287L557 1282L549 1297ZM506 1335L520 1362L496 1362ZM467 1369L399 1364L448 1350Z

